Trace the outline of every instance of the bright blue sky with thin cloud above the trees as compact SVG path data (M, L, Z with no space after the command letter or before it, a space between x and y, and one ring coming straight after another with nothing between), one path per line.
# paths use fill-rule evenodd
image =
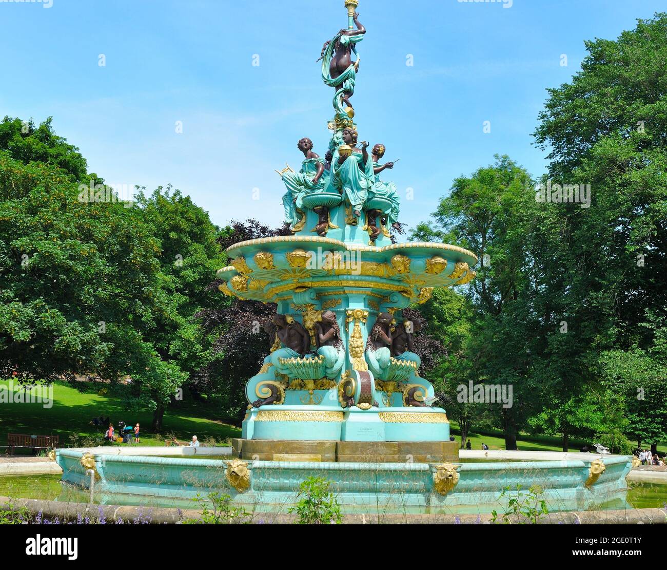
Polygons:
M2 115L53 115L109 184L171 183L218 225L281 222L273 171L299 166L303 136L322 156L328 144L333 89L315 59L346 26L343 0L52 2L0 0ZM414 189L401 221L428 218L454 178L496 153L542 174L531 133L546 87L576 73L584 40L615 39L666 9L665 0L360 0L368 33L352 101L360 138L401 159L384 180L404 198Z

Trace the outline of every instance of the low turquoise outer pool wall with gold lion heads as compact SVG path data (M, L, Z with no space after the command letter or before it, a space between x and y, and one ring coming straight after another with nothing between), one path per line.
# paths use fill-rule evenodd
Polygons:
M83 452L59 449L63 481L87 487ZM89 460L90 458L88 458ZM145 503L223 493L250 512L286 512L297 503L307 477L331 482L331 492L350 513L504 512L518 493L539 486L550 512L625 505L630 457L604 457L604 471L591 477L592 460L512 463L333 463L239 461L96 455L95 494L117 504L127 497ZM458 477L444 481L443 476ZM520 491L517 491L519 486Z

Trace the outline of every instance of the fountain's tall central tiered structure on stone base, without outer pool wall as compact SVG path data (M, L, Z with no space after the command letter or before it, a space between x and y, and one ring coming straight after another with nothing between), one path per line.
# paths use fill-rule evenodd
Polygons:
M401 455L428 449L434 459L456 457L446 412L434 406L432 383L420 375L420 356L412 351L421 323L402 311L426 302L436 287L472 280L477 258L458 246L392 238L400 199L380 174L394 163L381 164L383 144L371 150L358 140L350 99L360 63L356 45L366 29L355 12L358 1L345 5L348 29L325 43L321 57L323 81L336 90L325 158L305 137L297 145L299 172L277 171L292 235L234 244L229 266L217 272L224 294L274 303L278 312L265 325L263 366L246 385L243 437L235 448L251 459L275 455L274 448L313 455L303 441L321 442L321 450L331 442L404 442L415 445L403 445Z

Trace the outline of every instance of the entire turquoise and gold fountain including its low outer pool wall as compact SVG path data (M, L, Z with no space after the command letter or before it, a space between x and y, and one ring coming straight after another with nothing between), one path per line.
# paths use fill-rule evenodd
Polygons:
M263 365L245 386L234 459L58 450L63 479L86 486L93 473L107 502L187 499L221 487L234 503L259 510L293 504L309 475L329 479L350 511L488 512L516 485L539 485L552 510L622 497L628 457L458 461L446 410L414 352L422 323L403 312L436 287L470 282L477 257L454 245L392 239L400 200L382 178L394 164L381 163L383 144L358 140L350 99L366 29L358 0L344 3L348 28L325 43L321 58L323 81L334 89L327 152L321 158L303 138L299 171L278 172L291 235L234 244L229 266L217 272L223 294L277 306L265 324Z

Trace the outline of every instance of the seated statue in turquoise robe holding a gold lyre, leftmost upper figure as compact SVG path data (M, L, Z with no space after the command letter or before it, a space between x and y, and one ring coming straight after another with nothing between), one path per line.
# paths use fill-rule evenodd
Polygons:
M287 187L283 196L283 207L285 208L285 224L296 226L299 223L297 209L303 208L303 196L320 192L323 190L328 178L324 170L324 160L313 152L313 141L303 138L297 144L297 148L303 152L305 160L301 164L299 172L282 172L281 178Z

